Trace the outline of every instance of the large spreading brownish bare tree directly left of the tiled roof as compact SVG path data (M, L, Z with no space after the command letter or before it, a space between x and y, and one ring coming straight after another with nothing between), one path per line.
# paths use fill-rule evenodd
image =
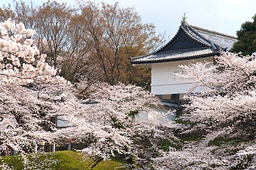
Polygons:
M96 60L104 81L116 84L130 74L128 55L145 54L155 50L162 37L155 33L155 26L141 22L134 8L120 8L118 3L109 5L92 2L79 4L81 14L77 16L85 32L84 42L89 45L90 56Z

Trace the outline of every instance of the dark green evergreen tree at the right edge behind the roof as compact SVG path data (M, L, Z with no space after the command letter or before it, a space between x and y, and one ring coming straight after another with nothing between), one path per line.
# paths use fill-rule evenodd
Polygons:
M256 14L253 21L246 21L237 31L238 41L234 43L231 52L242 52L243 55L252 55L256 52Z

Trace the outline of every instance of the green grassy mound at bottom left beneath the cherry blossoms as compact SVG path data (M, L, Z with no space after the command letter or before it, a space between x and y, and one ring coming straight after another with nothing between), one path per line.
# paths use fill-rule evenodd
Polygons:
M33 167L32 169L57 169L57 170L86 170L91 169L91 159L84 159L84 154L75 151L59 151L50 152L43 155L31 155L29 157L30 162L26 165L22 163L22 157L10 156L1 157L0 165L7 164L9 167L13 167L14 170L28 169L28 167ZM56 162L57 160L57 162ZM93 164L92 164L93 165ZM94 170L113 170L113 169L124 169L120 168L122 162L118 160L106 160L100 162L94 167ZM0 166L1 169L1 166Z

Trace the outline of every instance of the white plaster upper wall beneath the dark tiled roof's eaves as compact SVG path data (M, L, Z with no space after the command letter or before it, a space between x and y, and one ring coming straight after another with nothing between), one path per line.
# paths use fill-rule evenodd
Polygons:
M186 94L192 84L187 84L182 79L174 76L182 72L179 65L194 62L213 62L213 57L196 60L182 60L177 62L163 62L151 65L151 92L152 94ZM199 91L199 90L198 90Z

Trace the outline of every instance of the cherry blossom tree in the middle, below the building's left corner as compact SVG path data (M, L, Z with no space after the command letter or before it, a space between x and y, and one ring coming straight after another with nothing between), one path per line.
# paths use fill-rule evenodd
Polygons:
M84 86L84 82L80 86ZM91 91L82 106L76 106L82 109L67 109L75 113L74 117L57 136L86 144L82 152L96 156L94 166L117 155L126 157L131 166L147 166L164 140L172 142L176 138L171 131L174 123L166 119L172 113L156 111L152 106L160 107L160 101L148 91L123 84L98 84L91 87Z

